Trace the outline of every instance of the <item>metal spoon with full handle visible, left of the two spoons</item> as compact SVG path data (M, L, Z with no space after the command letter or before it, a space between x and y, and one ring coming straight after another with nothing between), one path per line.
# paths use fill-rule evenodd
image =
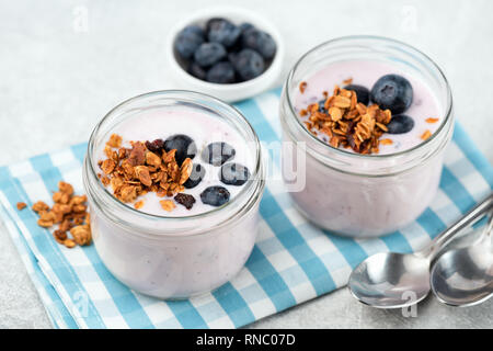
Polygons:
M493 194L439 234L432 244L415 253L381 252L363 261L347 283L359 302L378 308L414 305L429 293L429 264L438 251L461 229L485 214L493 205Z

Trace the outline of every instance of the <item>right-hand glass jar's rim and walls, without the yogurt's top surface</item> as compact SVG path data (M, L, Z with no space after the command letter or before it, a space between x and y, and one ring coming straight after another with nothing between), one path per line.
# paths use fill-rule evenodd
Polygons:
M417 146L389 155L334 148L308 132L294 107L300 82L332 63L356 59L389 63L424 81L442 106L438 129ZM305 177L305 186L289 193L296 207L316 225L356 238L381 236L413 222L433 200L444 149L454 131L452 98L444 73L417 49L376 36L347 36L321 44L305 54L289 72L279 115L284 141L306 149L305 168L298 170L302 176L298 178ZM283 152L283 178L288 189L290 174L286 169L297 165L297 158L299 152Z

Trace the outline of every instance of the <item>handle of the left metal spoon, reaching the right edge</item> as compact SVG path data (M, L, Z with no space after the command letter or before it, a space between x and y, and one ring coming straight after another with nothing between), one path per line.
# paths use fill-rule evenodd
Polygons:
M433 260L433 258L445 247L460 230L468 227L472 222L484 215L493 206L493 193L488 195L482 202L477 204L463 217L452 224L450 227L442 231L433 239L429 247L422 250L420 254Z

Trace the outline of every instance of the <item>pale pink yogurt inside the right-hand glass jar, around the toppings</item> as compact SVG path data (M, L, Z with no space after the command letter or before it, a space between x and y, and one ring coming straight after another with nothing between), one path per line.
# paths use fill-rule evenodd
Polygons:
M324 134L317 136L323 141L319 143L299 123L303 121L299 111L322 100L324 91L331 95L335 84L343 87L343 81L352 78L352 83L371 90L380 77L389 73L401 75L411 82L414 99L404 114L412 117L415 124L406 134L385 134L382 138L393 143L380 145L379 155L357 155L352 149L334 149L326 144ZM307 82L303 93L298 89L300 81ZM296 116L289 110L284 91L280 106L284 140L305 141L307 146L306 183L290 195L295 206L309 220L336 234L364 238L390 234L423 213L438 188L442 150L451 136L450 127L442 136L429 139L427 146L411 150L424 143L421 136L425 131L432 134L437 132L446 120L446 106L440 104L424 80L391 61L357 59L330 63L314 72L312 70L308 77L296 77L296 81L290 86L288 81L286 87L290 89ZM429 117L438 118L438 122L427 123ZM410 152L392 157L405 150ZM296 154L289 159L286 157L283 162L296 165ZM288 179L286 174L285 179Z

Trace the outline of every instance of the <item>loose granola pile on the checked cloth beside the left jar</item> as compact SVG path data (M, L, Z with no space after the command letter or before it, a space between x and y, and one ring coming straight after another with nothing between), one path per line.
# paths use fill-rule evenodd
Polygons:
M91 244L91 226L85 205L88 197L74 195L72 185L60 181L58 191L53 194L53 201L51 208L43 201L33 204L32 210L39 215L37 225L50 228L57 224L58 228L53 236L58 244L65 245L67 248ZM20 202L16 206L21 211L26 207L26 204ZM67 233L70 233L72 238L69 238Z

